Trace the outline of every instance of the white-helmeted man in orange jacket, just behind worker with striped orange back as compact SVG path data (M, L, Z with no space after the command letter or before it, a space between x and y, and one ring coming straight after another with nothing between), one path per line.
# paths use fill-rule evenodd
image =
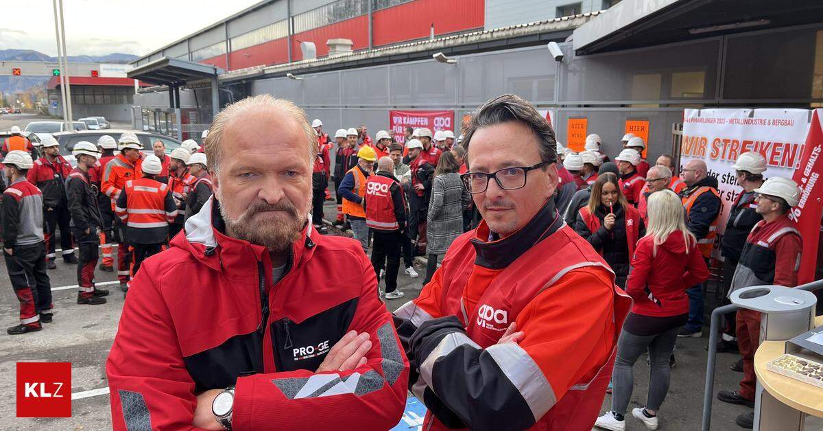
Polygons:
M101 191L111 199L111 208L117 203L120 191L126 186L126 181L142 177L140 170L142 143L137 135L124 133L120 135L118 143L120 153L106 164L103 171L103 180L100 183ZM131 262L131 253L128 251L128 230L120 218L114 219L114 228L120 237L117 247L117 278L120 280L120 290L128 289L128 268Z

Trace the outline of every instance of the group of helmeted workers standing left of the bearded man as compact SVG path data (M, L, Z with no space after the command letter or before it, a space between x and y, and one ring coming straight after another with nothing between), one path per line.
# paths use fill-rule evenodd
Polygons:
M42 157L15 127L0 149L2 244L20 301L20 323L7 329L10 335L42 330L53 319L47 269L57 268L58 229L63 261L77 265L77 303L100 305L109 291L95 286L95 270L115 270L113 240L119 287L126 293L142 261L163 250L212 194L206 155L191 139L170 155L161 141L144 154L133 133L118 141L104 135L96 144L74 145L74 167L53 136L39 147Z

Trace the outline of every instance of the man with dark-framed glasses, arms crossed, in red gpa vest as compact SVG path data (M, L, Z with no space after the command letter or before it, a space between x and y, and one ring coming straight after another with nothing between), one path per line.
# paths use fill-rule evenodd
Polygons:
M472 115L463 185L483 221L395 313L425 429L591 429L630 300L565 226L554 130L518 96Z

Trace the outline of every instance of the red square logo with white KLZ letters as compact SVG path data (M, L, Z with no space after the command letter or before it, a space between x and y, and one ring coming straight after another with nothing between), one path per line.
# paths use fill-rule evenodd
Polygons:
M72 416L72 363L18 362L17 417Z

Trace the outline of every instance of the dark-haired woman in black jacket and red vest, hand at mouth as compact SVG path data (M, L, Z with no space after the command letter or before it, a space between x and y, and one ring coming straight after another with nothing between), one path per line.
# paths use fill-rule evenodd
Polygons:
M631 255L645 227L639 211L626 202L616 175L597 178L588 205L577 213L574 230L603 256L615 272L615 283L624 287Z

